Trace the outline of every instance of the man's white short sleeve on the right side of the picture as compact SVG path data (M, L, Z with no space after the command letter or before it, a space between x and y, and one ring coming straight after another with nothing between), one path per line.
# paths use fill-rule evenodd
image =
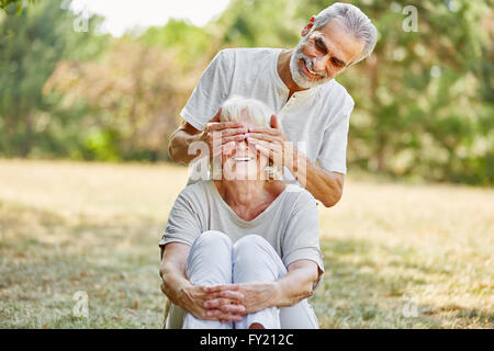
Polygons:
M333 172L347 173L347 140L353 100L348 95L340 113L324 132L317 160L319 166Z

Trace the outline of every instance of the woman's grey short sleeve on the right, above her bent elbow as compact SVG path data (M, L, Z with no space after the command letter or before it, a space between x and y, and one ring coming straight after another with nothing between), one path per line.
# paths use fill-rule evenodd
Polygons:
M297 260L311 260L323 272L314 287L323 281L324 263L319 247L318 213L315 199L305 190L293 205L282 241L282 261L285 267Z

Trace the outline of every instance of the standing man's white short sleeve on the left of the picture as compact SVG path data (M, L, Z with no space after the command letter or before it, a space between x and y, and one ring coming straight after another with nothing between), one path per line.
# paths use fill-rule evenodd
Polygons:
M229 94L233 77L232 54L221 50L210 63L180 115L199 131L216 114Z

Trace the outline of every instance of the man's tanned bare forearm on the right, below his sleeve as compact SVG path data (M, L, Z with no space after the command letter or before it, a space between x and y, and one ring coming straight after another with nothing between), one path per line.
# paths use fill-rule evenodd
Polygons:
M328 172L317 167L305 155L295 151L295 157L288 168L303 185L324 206L332 207L341 199L343 174ZM303 167L305 166L305 167Z

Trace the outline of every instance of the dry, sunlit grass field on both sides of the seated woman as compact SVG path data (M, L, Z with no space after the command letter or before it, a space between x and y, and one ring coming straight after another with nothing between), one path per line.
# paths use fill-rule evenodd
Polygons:
M160 328L187 169L0 160L0 328ZM493 328L494 190L346 179L319 205L322 328ZM76 317L77 292L88 317Z

